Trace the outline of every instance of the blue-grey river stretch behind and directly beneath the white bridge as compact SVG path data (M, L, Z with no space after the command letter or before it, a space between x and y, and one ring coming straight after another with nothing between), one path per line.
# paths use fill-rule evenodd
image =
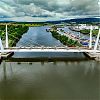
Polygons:
M52 37L50 32L46 32L48 26L30 27L29 31L23 35L17 43L17 47L21 46L63 46L60 41ZM65 29L69 31L68 28ZM82 53L15 53L13 58L36 58L36 57L68 57L68 58L85 58Z

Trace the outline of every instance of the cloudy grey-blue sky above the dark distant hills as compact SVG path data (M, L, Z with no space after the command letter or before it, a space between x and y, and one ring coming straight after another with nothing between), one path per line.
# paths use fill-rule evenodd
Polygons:
M0 0L0 20L46 21L98 16L98 0Z

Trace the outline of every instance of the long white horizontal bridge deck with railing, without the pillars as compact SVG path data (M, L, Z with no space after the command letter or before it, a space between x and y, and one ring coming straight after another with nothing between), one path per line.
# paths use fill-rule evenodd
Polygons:
M100 50L86 47L11 47L4 48L3 52L100 52Z

